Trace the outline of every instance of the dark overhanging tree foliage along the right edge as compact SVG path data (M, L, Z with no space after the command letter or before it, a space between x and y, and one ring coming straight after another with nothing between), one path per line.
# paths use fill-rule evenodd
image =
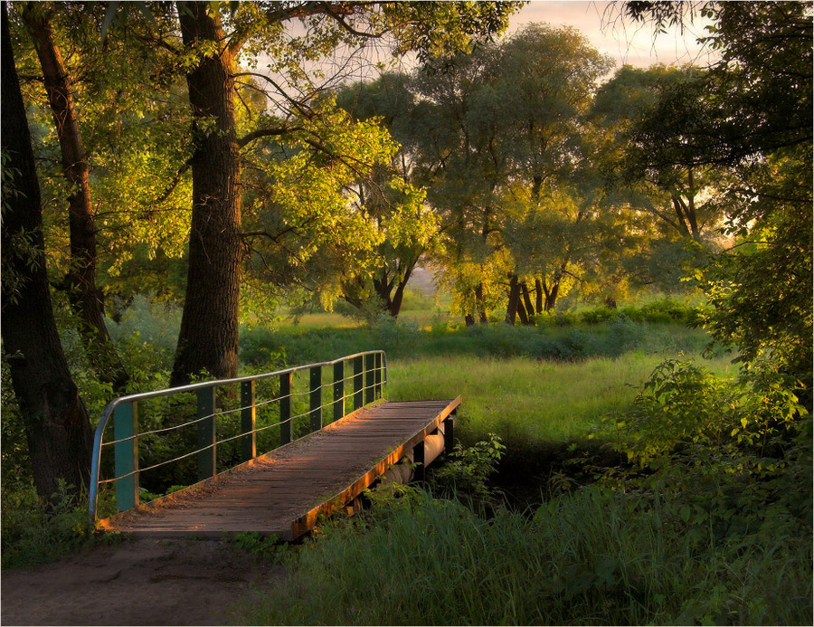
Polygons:
M624 10L658 28L693 7L642 2ZM634 140L651 166L734 170L721 193L734 200L724 231L737 245L705 272L715 307L708 327L747 364L768 361L798 377L810 407L814 8L710 2L702 11L714 25L706 41L720 54L706 75L708 96L665 94L652 117L664 123L642 126ZM672 132L679 125L680 135Z

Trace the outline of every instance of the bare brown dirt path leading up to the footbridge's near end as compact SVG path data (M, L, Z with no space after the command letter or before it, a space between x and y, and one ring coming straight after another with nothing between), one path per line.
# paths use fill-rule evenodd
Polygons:
M3 625L220 625L286 576L214 540L124 541L0 578Z

